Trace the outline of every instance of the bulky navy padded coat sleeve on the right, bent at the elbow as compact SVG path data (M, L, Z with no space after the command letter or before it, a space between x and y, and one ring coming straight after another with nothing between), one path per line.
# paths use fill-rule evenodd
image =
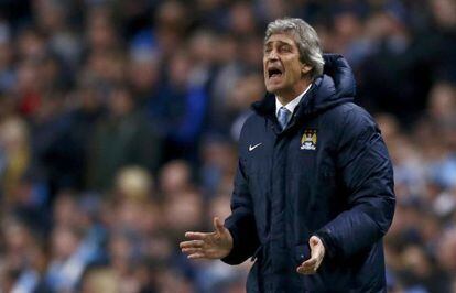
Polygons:
M395 206L393 170L373 119L360 108L346 116L337 149L348 209L319 229L328 258L368 249L388 231Z

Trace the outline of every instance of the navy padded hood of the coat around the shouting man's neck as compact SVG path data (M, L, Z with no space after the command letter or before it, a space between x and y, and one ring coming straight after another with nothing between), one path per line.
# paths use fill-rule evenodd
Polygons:
M355 76L347 61L337 54L324 54L323 75L317 77L305 98L302 99L296 115L307 116L330 109L340 104L350 102L356 95ZM252 104L259 115L269 116L275 112L274 95Z

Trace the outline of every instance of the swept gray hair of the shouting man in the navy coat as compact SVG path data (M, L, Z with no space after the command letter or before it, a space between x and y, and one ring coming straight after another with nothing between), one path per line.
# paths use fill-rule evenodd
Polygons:
M323 59L322 46L314 28L302 19L278 19L268 24L264 42L271 35L278 33L290 33L293 35L300 51L300 61L312 66L312 79L323 74L325 61Z

